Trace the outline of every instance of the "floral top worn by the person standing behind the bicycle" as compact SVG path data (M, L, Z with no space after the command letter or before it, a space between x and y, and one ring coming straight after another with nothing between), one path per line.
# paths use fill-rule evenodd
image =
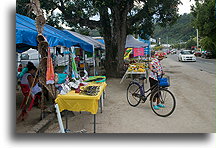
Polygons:
M151 61L150 64L152 65L153 69L154 69L155 71L157 71L158 75L161 75L161 74L162 74L162 72L163 72L163 67L162 67L162 65L161 65L161 62L160 62L158 59L154 58L154 59ZM156 81L158 81L158 79L157 79L157 73L151 71L149 77L152 78L152 79L154 79L154 80L156 80Z

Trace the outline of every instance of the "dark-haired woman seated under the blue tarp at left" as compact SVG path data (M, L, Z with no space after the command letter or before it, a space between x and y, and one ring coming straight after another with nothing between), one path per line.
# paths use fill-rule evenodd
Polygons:
M31 94L34 97L36 94L40 95L42 89L38 85L38 78L35 77L37 68L34 65L28 66L28 71L23 75L21 84L27 84L31 89ZM35 80L34 80L35 79ZM38 105L38 100L35 100L35 105Z

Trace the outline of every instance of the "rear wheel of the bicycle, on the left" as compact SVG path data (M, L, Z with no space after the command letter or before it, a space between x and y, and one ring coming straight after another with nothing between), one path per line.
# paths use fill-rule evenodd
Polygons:
M140 86L136 83L131 83L127 88L127 101L128 103L136 107L141 101Z

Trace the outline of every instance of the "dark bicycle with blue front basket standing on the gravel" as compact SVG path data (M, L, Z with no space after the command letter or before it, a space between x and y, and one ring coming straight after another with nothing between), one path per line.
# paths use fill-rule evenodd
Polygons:
M143 103L145 103L147 98L150 96L150 106L151 106L152 111L160 117L170 116L174 112L175 107L176 107L175 97L172 94L172 92L168 90L170 83L168 81L164 83L164 80L167 80L167 79L163 78L163 75L161 75L161 76L158 76L158 84L155 84L148 90L145 90L144 89L145 79L146 77L139 78L139 80L143 81L142 84L140 84L136 80L133 80L132 82L130 82L127 88L128 103L131 106L136 107L137 105L139 105L141 100L143 101ZM159 102L165 105L165 107L160 108L159 110L154 109L153 105L156 99L159 99Z

